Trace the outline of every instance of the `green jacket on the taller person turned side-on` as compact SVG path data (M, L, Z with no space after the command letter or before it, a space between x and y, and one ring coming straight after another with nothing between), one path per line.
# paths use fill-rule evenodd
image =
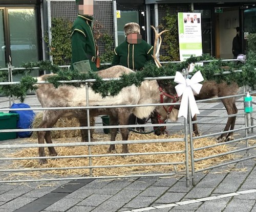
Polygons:
M97 71L96 64L93 62L97 52L92 29L92 16L77 16L71 31L71 70L78 69L83 73L89 70Z

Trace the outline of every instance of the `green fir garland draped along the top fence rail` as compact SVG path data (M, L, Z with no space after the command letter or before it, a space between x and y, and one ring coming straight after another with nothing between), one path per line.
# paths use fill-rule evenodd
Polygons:
M239 86L249 85L254 87L256 85L256 73L254 68L256 67L256 54L255 52L249 52L247 54L246 63L237 62L225 62L219 59L215 59L208 55L200 57L191 57L181 63L167 63L163 67L157 68L153 63L147 63L143 70L132 74L124 74L121 76L120 81L103 81L97 72L90 72L88 74L78 73L76 70L61 69L56 65L52 65L49 61L30 62L24 63L23 67L26 70L19 70L17 73L24 74L30 72L33 67L39 67L39 70L47 70L49 72L57 73L57 75L48 78L48 81L53 83L55 87L58 87L61 83L60 80L87 80L96 79L96 82L92 83L91 87L95 92L98 92L102 97L115 96L118 92L126 86L135 84L139 86L145 77L161 77L161 76L175 76L176 72L181 72L184 68L187 68L188 64L199 62L202 60L212 60L209 63L205 63L204 66L196 65L193 73L198 70L201 71L205 80L215 80L217 82L225 81L227 83L236 82ZM233 70L242 69L241 73L235 73ZM223 72L230 71L231 74L224 75ZM2 74L2 75L1 75ZM214 76L215 74L220 74ZM4 72L0 72L0 79L4 78ZM2 81L7 81L2 80ZM20 101L24 101L28 90L35 90L36 79L31 76L23 77L20 84L0 86L0 93L6 96L12 95L18 97ZM168 80L168 83L173 83L173 80ZM74 86L80 86L80 83L73 83Z

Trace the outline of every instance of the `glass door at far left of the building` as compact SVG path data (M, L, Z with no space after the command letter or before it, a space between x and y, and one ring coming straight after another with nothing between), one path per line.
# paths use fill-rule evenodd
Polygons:
M0 66L10 63L19 67L23 62L39 61L39 29L37 7L0 8ZM38 71L31 75L38 76Z

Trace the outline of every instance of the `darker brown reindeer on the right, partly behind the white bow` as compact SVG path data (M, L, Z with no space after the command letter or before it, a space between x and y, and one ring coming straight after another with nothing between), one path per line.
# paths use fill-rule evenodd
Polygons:
M157 51L155 51L155 49L154 49L153 58L157 64L157 66L161 67L162 65L156 56L159 53L159 49L160 49L160 45L161 45L161 41L162 41L162 39L161 39L162 33L157 33L156 29L154 27L152 27L152 28L155 31L156 37L159 37L159 39L160 39ZM155 45L156 45L156 42L157 41L155 39ZM234 82L227 84L226 82L217 83L216 81L205 81L203 83L203 86L202 86L202 89L201 89L199 95L195 95L195 99L196 100L204 100L204 99L211 99L211 98L217 98L217 97L233 96L233 95L237 95L238 91L239 91L239 86L237 83L234 83ZM222 99L221 101L224 104L228 115L236 114L238 112L238 109L236 107L236 98L234 98L234 97L226 98L226 99ZM160 106L158 106L158 107L160 107ZM158 107L156 109L159 110ZM179 109L179 106L174 106L174 108ZM152 114L151 120L152 120L153 124L163 122L162 116L159 116L156 111ZM193 117L193 121L196 121L196 120L197 120L197 116L195 115ZM229 140L234 139L233 132L226 133L225 131L228 131L229 129L233 130L235 122L236 122L236 116L228 117L227 124L224 128L224 132L217 138L217 142L227 142ZM193 131L194 131L195 135L199 135L197 124L193 124ZM162 132L163 132L163 130L162 130ZM158 129L155 131L155 134L160 135L162 132L160 129Z

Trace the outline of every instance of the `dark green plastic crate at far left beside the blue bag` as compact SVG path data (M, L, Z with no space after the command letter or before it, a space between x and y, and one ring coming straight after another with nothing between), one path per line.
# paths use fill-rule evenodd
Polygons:
M3 113L0 112L0 130L16 129L18 113ZM0 140L14 139L17 137L16 132L0 132Z

